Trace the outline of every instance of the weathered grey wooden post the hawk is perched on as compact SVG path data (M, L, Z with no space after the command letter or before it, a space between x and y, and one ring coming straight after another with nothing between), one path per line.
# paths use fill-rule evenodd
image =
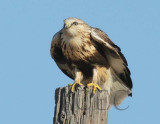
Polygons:
M53 124L107 124L108 92L92 93L92 87L78 86L75 92L71 86L55 91L55 112Z

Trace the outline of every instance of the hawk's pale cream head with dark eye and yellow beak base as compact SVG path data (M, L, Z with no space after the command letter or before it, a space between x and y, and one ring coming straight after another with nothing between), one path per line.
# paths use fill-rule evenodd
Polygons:
M69 36L79 35L81 32L88 31L90 26L78 18L67 18L64 20L63 31Z

